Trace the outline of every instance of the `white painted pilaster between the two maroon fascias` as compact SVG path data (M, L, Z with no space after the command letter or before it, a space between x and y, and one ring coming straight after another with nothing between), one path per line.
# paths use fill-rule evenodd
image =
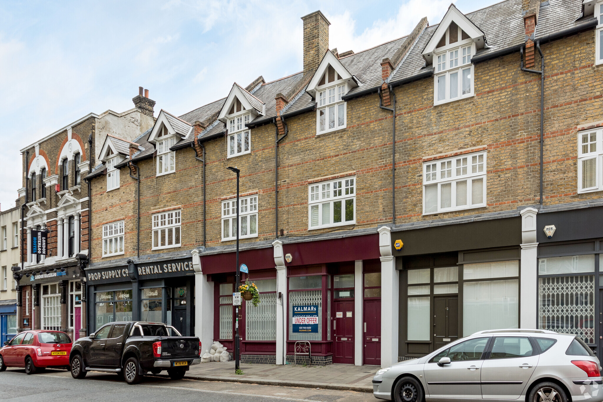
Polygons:
M287 359L287 269L283 242L274 240L274 265L276 265L276 364L284 365ZM278 297L280 295L280 297Z

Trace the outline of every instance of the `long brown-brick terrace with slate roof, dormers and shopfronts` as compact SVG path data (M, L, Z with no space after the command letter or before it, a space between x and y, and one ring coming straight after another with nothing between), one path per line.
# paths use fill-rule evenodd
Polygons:
M309 341L316 363L387 366L501 325L599 347L593 4L451 5L356 53L329 51L317 11L302 72L107 137L87 176L90 328L128 291L134 319L232 348L239 230L262 298L239 311L245 361L282 364ZM555 301L569 293L574 307ZM317 324L300 329L301 307Z

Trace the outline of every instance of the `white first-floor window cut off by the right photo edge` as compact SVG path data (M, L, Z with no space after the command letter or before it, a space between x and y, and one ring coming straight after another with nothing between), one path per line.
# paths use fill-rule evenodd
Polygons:
M603 189L603 130L578 133L578 192Z

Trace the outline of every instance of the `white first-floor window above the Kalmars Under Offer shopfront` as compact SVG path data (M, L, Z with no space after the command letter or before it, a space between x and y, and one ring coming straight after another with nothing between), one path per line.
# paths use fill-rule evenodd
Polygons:
M356 224L356 177L308 186L308 228Z

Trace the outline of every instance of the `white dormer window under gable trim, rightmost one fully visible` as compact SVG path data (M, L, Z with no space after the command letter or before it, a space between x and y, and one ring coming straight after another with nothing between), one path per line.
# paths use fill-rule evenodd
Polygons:
M434 51L434 104L473 96L473 40L454 22Z

